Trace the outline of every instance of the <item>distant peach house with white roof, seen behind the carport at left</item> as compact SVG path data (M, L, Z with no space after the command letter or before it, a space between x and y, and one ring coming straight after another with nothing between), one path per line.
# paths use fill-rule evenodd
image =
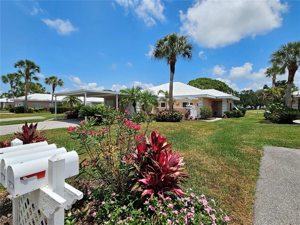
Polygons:
M57 105L61 105L62 104L62 99L66 97L66 96L58 96L56 98L56 101L58 102ZM31 108L40 108L40 107L44 107L44 108L49 108L51 106L51 98L52 95L51 94L32 94L32 95L27 95L27 101L28 101L28 107ZM83 97L78 97L79 99L81 99L82 104L84 104L84 98ZM19 98L15 98L13 99L14 101L14 105L16 106L23 106L24 105L24 101L25 101L25 96L19 97ZM103 98L87 98L86 99L86 103L87 105L98 105L100 103L103 103L104 99ZM53 106L55 106L55 98L53 98Z

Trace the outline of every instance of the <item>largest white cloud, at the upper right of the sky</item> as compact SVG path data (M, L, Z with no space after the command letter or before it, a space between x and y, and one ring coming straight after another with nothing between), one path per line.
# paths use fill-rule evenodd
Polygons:
M287 3L276 1L195 1L180 13L180 31L199 46L224 47L245 37L263 35L282 24Z

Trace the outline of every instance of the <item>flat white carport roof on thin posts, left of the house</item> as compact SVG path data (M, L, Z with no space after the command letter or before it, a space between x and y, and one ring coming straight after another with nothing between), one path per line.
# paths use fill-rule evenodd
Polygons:
M116 91L98 91L98 90L88 90L88 89L79 89L74 91L64 91L54 93L54 96L82 96L84 97L86 93L86 97L115 97L116 95L124 95L124 93L116 92Z

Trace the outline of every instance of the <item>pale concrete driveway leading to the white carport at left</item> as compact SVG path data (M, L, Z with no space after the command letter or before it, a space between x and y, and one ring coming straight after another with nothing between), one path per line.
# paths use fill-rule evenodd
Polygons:
M54 128L68 128L70 126L75 126L80 123L82 119L63 119L63 120L51 120L51 121L44 121L38 122L38 130L48 130ZM35 123L34 123L35 124ZM13 134L16 131L21 131L22 126L24 124L14 124L14 125L5 125L0 126L0 135L4 134Z

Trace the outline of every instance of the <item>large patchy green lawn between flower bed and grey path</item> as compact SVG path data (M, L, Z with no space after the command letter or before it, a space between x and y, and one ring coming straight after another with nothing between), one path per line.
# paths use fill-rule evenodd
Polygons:
M214 198L229 212L230 224L252 224L262 147L300 149L299 125L272 124L263 119L262 113L253 113L255 111L264 110L249 110L245 117L216 122L154 122L149 125L148 134L157 129L167 136L168 142L173 142L174 151L185 156L185 167L190 174L187 187ZM68 137L66 128L45 131L57 146L70 150L76 145ZM0 140L10 137L11 134L3 135ZM84 158L83 155L79 157Z

